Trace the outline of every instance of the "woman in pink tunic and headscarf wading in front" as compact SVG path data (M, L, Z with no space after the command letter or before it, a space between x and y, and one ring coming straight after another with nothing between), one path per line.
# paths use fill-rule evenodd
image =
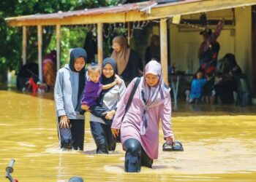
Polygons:
M135 82L136 79L133 79L127 87L111 126L114 137L121 135L121 143L126 151L126 172L140 172L141 165L152 167L153 159L158 157L160 119L166 141L174 142L170 125L170 89L162 80L161 65L151 60L145 66L143 77L125 114Z

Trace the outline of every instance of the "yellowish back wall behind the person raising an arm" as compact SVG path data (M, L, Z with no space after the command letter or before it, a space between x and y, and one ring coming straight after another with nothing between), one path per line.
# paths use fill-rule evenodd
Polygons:
M197 50L203 41L199 32L199 30L193 31L192 28L179 30L176 25L170 25L170 58L177 70L192 74L199 68ZM233 29L223 30L217 41L220 44L219 58L227 52L235 52Z

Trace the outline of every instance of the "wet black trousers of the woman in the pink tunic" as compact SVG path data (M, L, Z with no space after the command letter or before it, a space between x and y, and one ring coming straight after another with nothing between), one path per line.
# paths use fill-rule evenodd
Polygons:
M148 157L141 144L136 139L128 139L124 142L125 160L124 170L128 173L140 172L141 166L152 168L153 159Z

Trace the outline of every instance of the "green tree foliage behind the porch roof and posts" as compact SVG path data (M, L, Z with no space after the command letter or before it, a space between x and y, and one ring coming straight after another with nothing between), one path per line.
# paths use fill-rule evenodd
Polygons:
M2 0L0 3L0 74L5 74L4 71L7 68L18 70L22 63L22 28L7 27L4 22L5 17L90 9L116 5L118 2L118 0ZM56 49L54 29L53 26L43 27L43 55ZM27 61L37 62L37 27L28 27L27 30ZM85 32L61 28L61 64L68 60L69 48L83 47L85 36Z

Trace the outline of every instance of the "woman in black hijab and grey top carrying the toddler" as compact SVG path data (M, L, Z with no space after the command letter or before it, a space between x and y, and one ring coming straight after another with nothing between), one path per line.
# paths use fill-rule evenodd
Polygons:
M116 74L116 61L113 58L105 58L102 63L102 84L114 82ZM124 95L126 87L121 79L121 84L116 84L108 90L102 90L99 101L102 106L109 109L105 118L112 119L116 114L116 106L120 98ZM113 140L110 124L103 119L91 114L90 117L91 135L97 146L97 154L108 154L108 151L116 149L116 142Z

